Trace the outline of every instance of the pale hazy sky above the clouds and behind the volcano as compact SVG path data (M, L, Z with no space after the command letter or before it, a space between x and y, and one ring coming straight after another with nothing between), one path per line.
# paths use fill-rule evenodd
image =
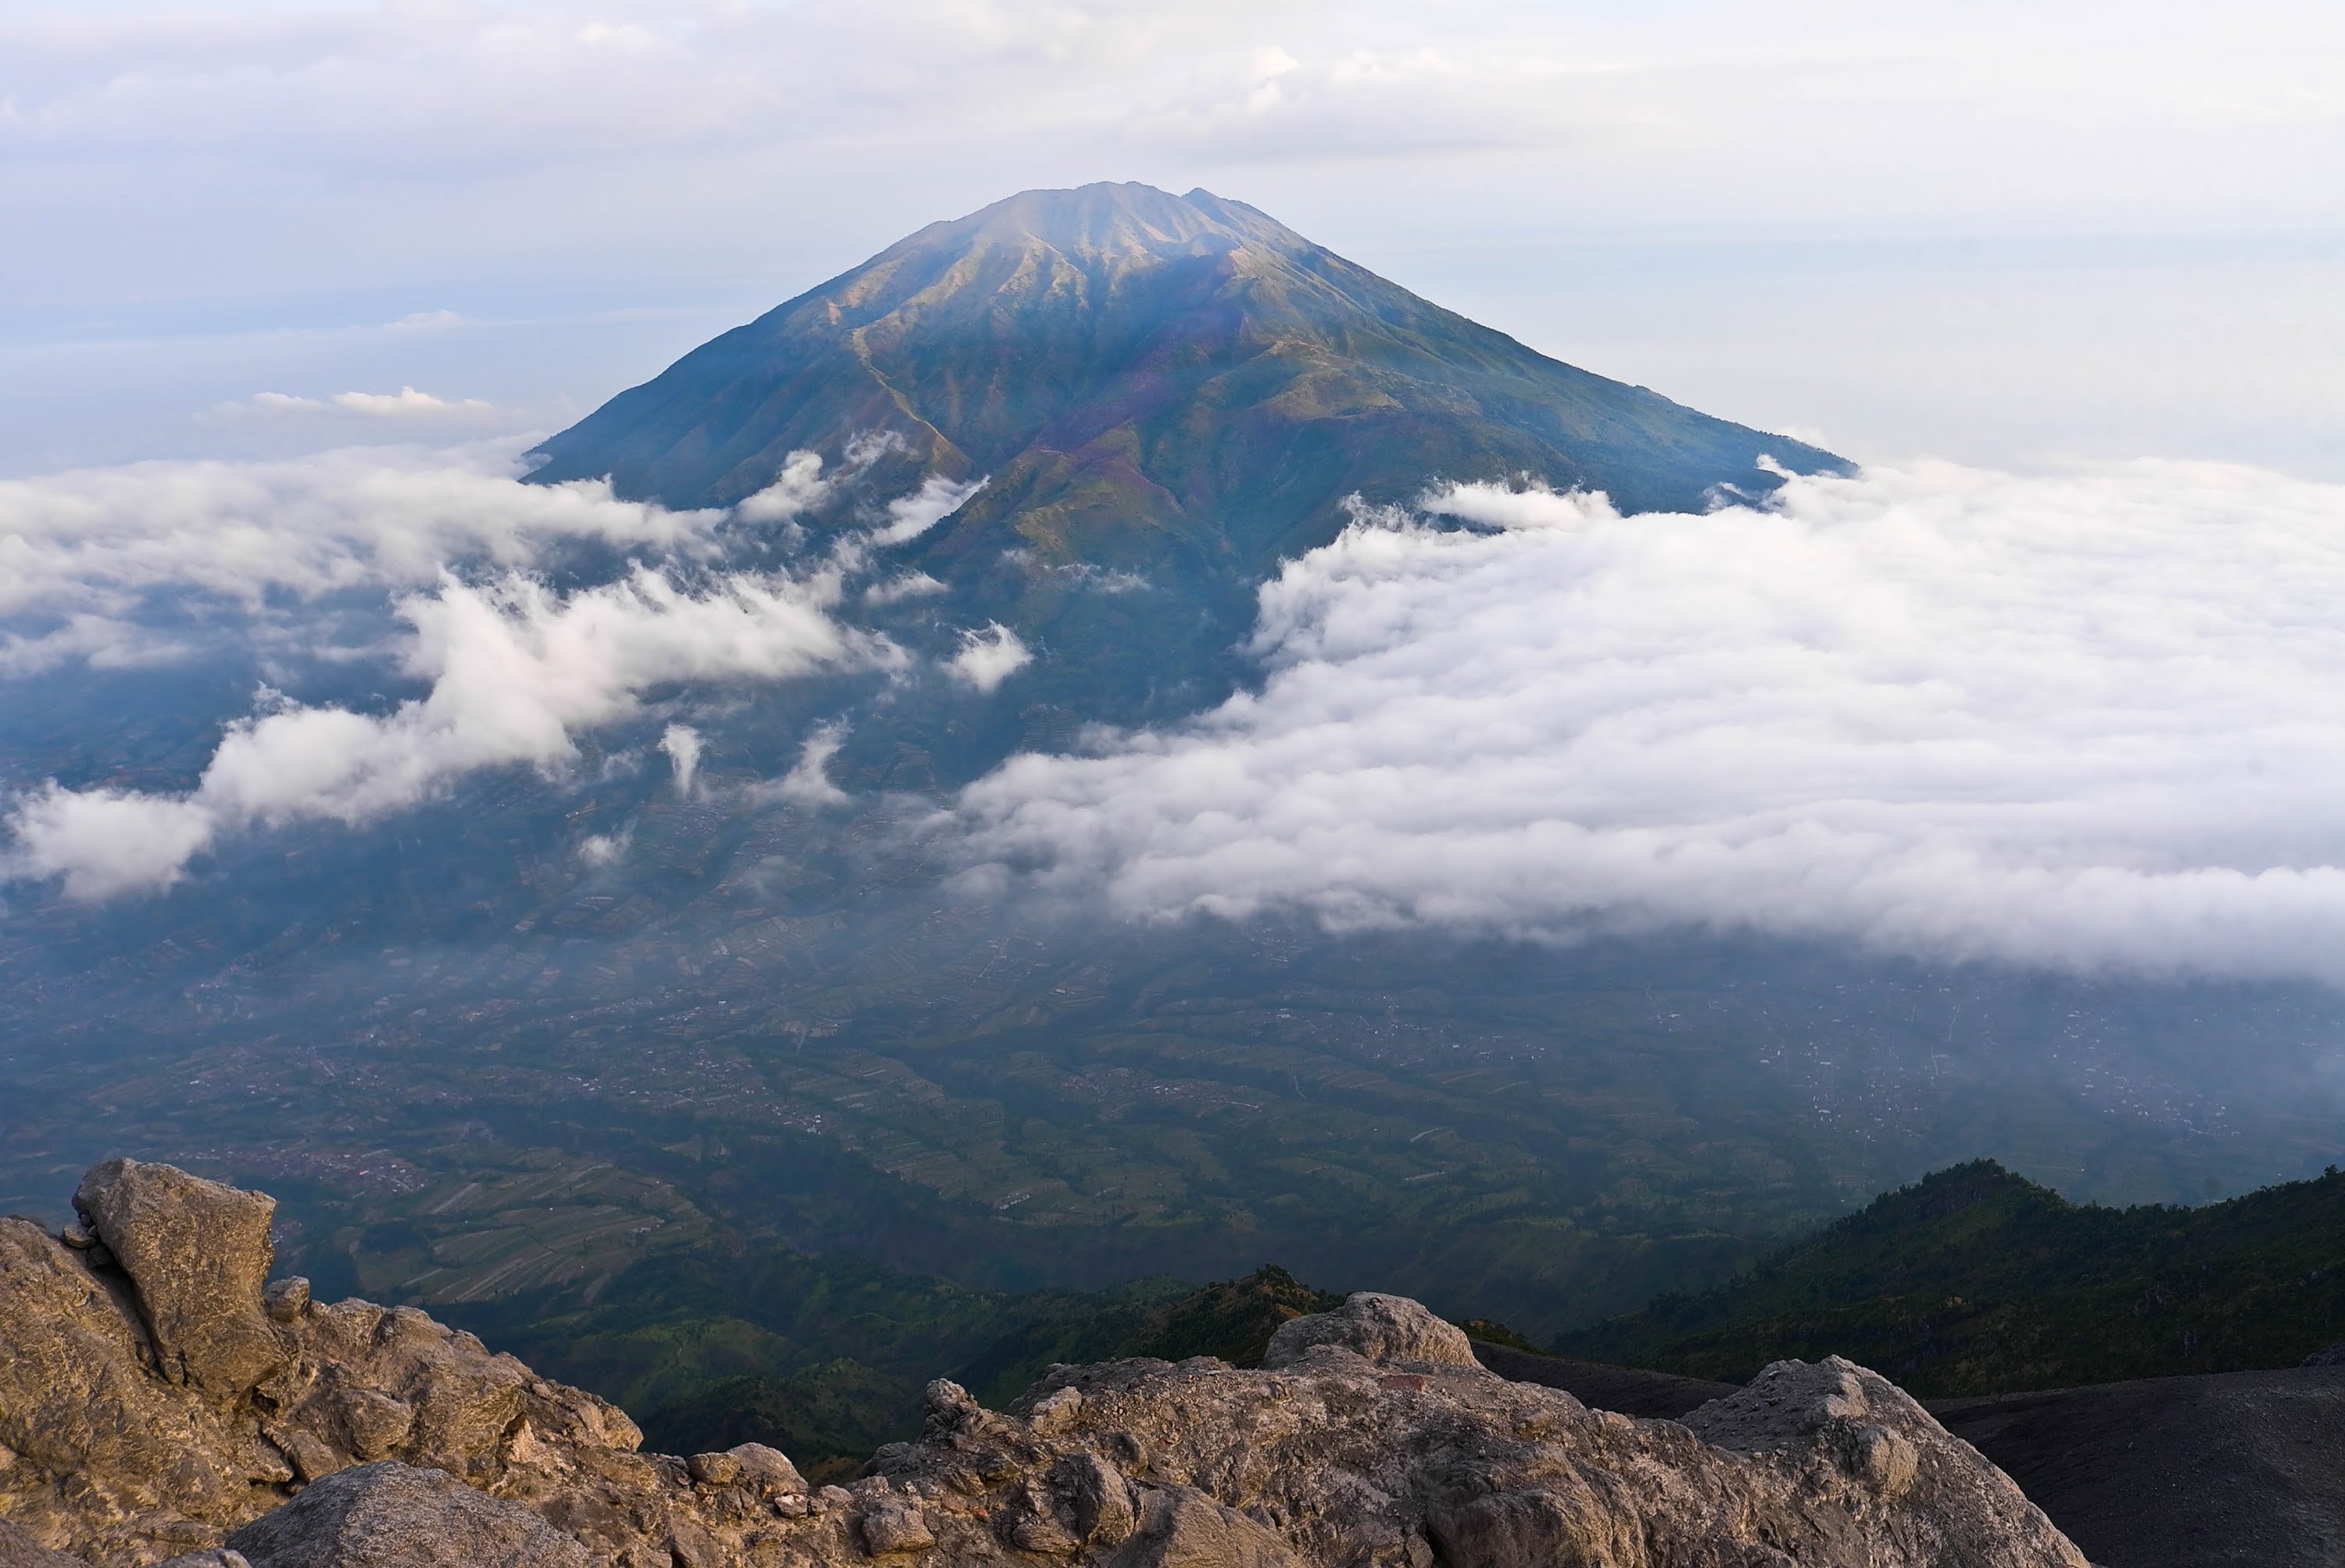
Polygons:
M0 473L558 429L1093 178L1871 462L2345 478L2310 0L19 0Z

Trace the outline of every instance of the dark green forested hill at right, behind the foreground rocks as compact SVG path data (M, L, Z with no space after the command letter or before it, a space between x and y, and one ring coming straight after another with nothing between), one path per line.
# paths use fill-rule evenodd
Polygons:
M2338 1338L2336 1167L2195 1209L2110 1209L1974 1160L1557 1352L1733 1383L1778 1357L1846 1355L1951 1397L2293 1366Z

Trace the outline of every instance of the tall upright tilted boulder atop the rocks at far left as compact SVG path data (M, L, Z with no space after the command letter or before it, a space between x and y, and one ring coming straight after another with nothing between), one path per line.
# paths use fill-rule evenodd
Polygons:
M288 1359L260 1310L274 1198L176 1165L106 1160L73 1207L136 1284L164 1378L235 1397Z

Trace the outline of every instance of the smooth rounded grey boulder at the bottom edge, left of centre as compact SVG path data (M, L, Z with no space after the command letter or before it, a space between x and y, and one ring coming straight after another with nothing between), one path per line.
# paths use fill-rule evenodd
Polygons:
M380 1463L331 1474L227 1538L251 1568L586 1568L525 1507L443 1470Z

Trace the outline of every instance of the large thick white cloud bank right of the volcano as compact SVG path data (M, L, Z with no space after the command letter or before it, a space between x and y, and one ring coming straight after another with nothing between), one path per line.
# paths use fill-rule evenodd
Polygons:
M1367 516L1264 586L1259 694L971 785L973 858L1154 919L2345 980L2345 488L1921 464L1423 511L1475 530Z

